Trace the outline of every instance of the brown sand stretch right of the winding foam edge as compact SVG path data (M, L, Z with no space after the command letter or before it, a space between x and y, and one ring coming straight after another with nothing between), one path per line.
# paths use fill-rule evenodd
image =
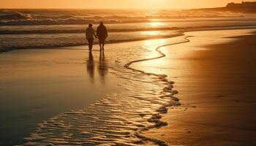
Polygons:
M185 34L190 42L161 48L165 58L132 65L167 74L182 104L146 137L168 145L256 145L255 30Z

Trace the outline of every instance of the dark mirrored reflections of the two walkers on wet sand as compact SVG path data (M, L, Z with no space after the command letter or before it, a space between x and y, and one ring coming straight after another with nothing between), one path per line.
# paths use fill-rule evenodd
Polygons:
M95 77L95 68L98 69L98 74L100 77L100 80L102 83L105 82L105 76L108 74L108 65L107 61L105 59L105 54L104 52L101 52L99 55L99 64L95 64L94 62L94 56L92 53L89 53L89 58L88 61L86 61L87 65L87 72L89 73L89 77L91 78L91 82L94 82L94 77Z

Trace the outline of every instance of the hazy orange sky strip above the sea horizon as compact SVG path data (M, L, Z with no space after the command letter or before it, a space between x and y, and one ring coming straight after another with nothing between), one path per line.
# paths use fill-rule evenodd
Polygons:
M186 9L200 7L222 7L231 1L241 2L241 0L0 0L0 7L86 9Z

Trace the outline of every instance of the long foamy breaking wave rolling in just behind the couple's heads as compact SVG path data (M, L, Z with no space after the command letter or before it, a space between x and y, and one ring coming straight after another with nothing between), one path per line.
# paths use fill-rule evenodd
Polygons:
M120 18L120 17L117 17ZM31 15L22 15L22 14L13 14L13 15L4 15L0 16L0 26L39 26L39 25L87 25L88 23L99 23L102 20L105 23L108 24L115 24L115 23L151 23L152 19L156 18L132 18L127 20L119 20L117 18L113 19L106 19L106 18L75 18L71 16L61 16L59 18L44 18L44 19L38 19L38 18L32 18ZM206 17L209 18L209 17ZM218 17L212 17L212 18L218 18ZM222 17L221 17L222 18ZM243 17L241 17L243 18ZM163 19L163 18L162 18ZM184 20L166 20L166 19L172 19L172 18L165 18L165 19L159 19L159 22L184 22ZM174 18L173 18L174 19ZM175 18L177 19L177 18ZM184 18L178 18L178 19L184 19ZM254 19L245 19L252 21ZM185 20L187 22L200 22L200 21L220 21L220 20ZM238 19L235 20L221 20L221 21L238 21Z

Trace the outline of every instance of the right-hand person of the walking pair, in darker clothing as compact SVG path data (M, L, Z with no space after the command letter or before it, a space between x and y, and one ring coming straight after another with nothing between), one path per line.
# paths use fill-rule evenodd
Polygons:
M104 51L105 40L108 37L108 30L106 26L104 26L103 22L100 22L99 26L97 27L97 37L99 39L100 51Z

